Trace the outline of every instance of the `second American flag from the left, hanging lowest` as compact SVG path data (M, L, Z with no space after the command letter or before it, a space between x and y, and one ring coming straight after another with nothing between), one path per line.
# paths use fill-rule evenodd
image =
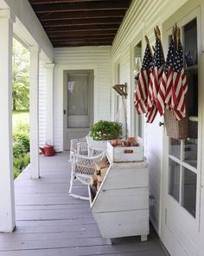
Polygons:
M155 120L157 108L156 99L160 86L160 82L163 75L163 47L161 41L156 38L155 54L153 60L152 73L150 74L150 85L148 91L148 112L146 114L147 122L152 122Z

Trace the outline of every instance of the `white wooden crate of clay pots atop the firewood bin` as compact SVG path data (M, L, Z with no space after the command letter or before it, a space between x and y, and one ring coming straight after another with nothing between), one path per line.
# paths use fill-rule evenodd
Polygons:
M131 153L124 153L125 150L131 150ZM143 161L143 146L138 147L112 147L112 144L107 142L107 154L111 161Z

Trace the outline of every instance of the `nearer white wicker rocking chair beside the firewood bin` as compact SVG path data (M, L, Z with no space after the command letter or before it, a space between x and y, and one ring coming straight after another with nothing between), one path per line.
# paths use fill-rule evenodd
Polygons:
M80 145L78 144L78 148L79 146ZM72 159L72 173L70 178L70 187L69 187L68 194L82 200L89 200L89 198L72 193L73 181L78 180L84 185L89 185L90 178L95 171L94 169L95 163L97 161L102 160L105 156L105 152L103 152L101 149L89 148L89 153L91 156L82 155L82 154L73 154L73 159Z

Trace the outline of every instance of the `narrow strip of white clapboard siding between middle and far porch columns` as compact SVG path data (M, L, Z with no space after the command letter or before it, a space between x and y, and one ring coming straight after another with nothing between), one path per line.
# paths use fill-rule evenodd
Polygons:
M40 63L39 69L39 145L46 143L46 69Z

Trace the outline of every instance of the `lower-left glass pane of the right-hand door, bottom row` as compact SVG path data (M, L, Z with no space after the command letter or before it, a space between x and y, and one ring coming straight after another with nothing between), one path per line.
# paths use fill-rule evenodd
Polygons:
M180 165L169 159L169 194L179 201Z

